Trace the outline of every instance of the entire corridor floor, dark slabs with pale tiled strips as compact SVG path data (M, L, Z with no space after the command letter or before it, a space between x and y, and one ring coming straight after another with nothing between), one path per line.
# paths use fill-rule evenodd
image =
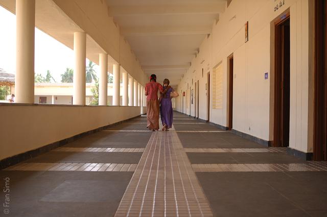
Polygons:
M177 112L168 132L143 115L0 174L8 216L327 216L325 161Z

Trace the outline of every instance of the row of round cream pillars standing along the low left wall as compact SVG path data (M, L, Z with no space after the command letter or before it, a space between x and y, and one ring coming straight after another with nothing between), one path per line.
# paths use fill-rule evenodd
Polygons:
M35 0L16 0L16 78L15 101L34 103ZM85 105L86 33L74 33L73 104ZM108 54L99 54L99 105L107 105ZM120 105L121 65L113 64L112 105ZM135 79L123 78L123 106L144 105L144 88ZM129 88L128 88L129 86ZM143 113L143 111L141 111Z

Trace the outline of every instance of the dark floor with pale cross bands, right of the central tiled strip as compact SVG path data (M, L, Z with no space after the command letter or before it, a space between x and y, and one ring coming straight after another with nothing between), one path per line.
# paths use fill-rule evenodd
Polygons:
M327 216L326 162L306 162L284 148L192 126L175 128L215 216Z

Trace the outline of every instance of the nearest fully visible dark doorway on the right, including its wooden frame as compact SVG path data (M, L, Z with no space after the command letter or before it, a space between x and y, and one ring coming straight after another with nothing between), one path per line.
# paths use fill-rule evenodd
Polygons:
M290 140L290 15L275 22L274 147Z

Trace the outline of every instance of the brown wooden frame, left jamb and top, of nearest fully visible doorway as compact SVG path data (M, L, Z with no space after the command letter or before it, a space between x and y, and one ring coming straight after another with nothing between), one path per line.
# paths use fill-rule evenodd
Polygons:
M283 13L281 17L279 17L275 22L274 22L274 111L273 111L273 119L274 119L274 126L273 126L273 142L272 142L272 146L273 147L279 147L279 140L281 140L282 135L281 135L281 131L279 130L282 126L283 123L280 123L281 120L281 116L283 115L281 113L281 108L282 105L281 104L281 100L279 99L280 97L280 93L279 93L279 89L282 82L281 77L277 76L277 70L282 67L281 64L279 64L279 62L277 61L277 56L278 54L278 46L281 46L282 41L279 40L279 38L277 37L277 27L279 25L282 25L285 21L287 21L288 19L290 20L290 12L286 12ZM278 92L277 92L278 91ZM279 94L278 94L279 93ZM278 103L278 106L277 106Z

